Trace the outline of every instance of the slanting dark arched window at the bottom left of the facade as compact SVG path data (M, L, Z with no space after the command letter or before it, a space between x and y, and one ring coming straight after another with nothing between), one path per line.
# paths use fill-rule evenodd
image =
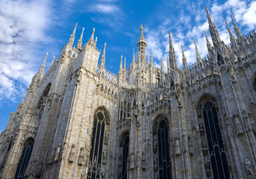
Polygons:
M16 179L24 178L25 169L28 166L28 161L31 157L33 147L34 147L34 140L30 138L24 144L22 156L19 159L18 169L16 170L16 175L15 175Z

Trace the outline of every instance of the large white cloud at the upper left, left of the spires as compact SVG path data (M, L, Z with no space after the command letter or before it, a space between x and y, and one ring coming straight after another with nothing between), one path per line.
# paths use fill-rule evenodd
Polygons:
M15 101L31 82L35 44L49 40L49 10L47 1L0 1L0 101Z

